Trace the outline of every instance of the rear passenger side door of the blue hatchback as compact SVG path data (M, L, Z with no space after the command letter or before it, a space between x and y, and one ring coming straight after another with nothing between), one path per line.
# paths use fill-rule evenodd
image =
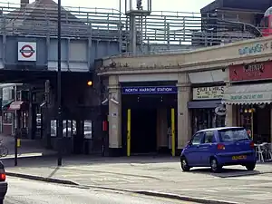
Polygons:
M203 132L203 140L199 145L199 151L201 152L200 164L202 166L209 166L209 157L213 155L215 147L214 142L214 131Z

